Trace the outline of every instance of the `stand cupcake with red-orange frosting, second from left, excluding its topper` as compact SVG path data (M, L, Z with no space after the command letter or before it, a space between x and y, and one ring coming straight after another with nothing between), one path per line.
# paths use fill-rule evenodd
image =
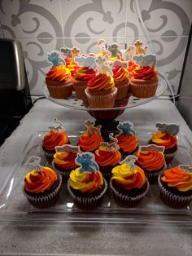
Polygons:
M86 100L85 88L89 80L95 76L93 68L80 67L76 70L76 74L73 76L73 88L76 91L76 96L79 99Z

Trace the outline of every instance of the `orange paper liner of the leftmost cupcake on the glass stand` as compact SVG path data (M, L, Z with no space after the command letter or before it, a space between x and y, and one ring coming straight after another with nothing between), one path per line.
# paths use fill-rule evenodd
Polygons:
M46 84L49 92L50 92L50 97L55 98L55 99L67 99L72 95L72 82L68 82L66 84L61 84L58 86L51 86L49 84Z

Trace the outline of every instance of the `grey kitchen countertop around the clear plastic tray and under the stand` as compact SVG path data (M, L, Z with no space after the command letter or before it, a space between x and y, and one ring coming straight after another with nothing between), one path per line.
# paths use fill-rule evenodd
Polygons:
M6 178L7 169L11 170L17 164L30 136L45 130L54 117L63 121L66 130L85 130L84 121L90 118L85 111L63 108L48 99L38 100L0 148L1 182ZM126 109L117 119L132 121L135 130L143 126L150 131L156 122L181 124L181 132L192 145L190 128L168 99L155 99L148 104ZM192 222L176 223L173 217L156 216L153 221L146 219L133 223L107 220L103 223L11 222L2 220L0 209L0 254L192 255Z

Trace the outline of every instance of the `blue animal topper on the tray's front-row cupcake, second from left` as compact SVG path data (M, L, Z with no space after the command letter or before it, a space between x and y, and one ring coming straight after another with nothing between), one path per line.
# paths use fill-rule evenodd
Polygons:
M90 172L95 173L99 170L98 164L94 160L94 154L91 152L77 153L76 165L81 166L79 173Z

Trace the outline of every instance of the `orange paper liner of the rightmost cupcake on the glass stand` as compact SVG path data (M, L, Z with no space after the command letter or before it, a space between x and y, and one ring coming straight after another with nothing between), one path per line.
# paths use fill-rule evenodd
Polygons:
M130 83L129 90L131 90L132 95L137 98L151 98L155 96L157 90L158 82L151 84L136 84Z

